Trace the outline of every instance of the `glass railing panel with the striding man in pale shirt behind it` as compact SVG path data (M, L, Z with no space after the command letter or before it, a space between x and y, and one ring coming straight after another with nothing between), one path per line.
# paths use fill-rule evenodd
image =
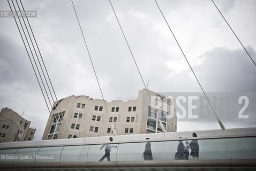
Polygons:
M112 145L111 151L108 152L109 145ZM106 144L102 147L102 145L90 145L88 150L87 161L108 161L108 157L110 161L116 161L116 153L117 153L118 144Z

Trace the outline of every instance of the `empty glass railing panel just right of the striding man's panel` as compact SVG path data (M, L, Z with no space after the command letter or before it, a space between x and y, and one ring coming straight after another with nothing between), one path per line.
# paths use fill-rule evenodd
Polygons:
M142 161L146 143L119 144L117 161Z

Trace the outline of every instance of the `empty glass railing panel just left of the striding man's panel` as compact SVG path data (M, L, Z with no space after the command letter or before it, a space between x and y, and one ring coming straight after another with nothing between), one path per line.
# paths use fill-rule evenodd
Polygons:
M87 162L89 145L65 146L61 154L61 162Z

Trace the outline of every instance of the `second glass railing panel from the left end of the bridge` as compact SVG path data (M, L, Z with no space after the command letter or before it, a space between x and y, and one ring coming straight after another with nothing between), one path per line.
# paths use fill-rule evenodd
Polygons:
M35 148L25 148L25 149L19 149L16 152L16 156L18 157L18 160L14 160L14 164L18 163L34 163L37 158L37 152L39 151L40 147Z

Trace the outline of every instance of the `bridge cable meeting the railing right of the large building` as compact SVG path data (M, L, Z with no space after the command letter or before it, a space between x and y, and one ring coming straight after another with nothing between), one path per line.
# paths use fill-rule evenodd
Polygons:
M200 86L200 88L201 88L202 92L204 92L204 95L205 95L205 97L206 97L206 99L207 99L207 101L208 101L208 103L209 103L210 107L212 108L212 110L213 110L213 112L214 112L214 114L215 114L215 117L216 117L217 121L219 122L219 125L220 125L221 129L225 129L225 127L224 127L223 123L221 122L221 120L219 119L219 117L217 116L217 114L215 113L215 110L214 110L214 108L213 108L212 104L210 103L210 100L209 100L209 99L208 99L208 97L206 96L206 93L205 93L204 89L202 88L202 86L201 86L201 84L200 84L200 82L199 82L199 80L198 80L197 76L195 75L195 73L194 73L194 71L193 71L193 69L192 69L192 67L191 67L191 65L190 65L190 63L189 63L189 61L187 60L187 58L186 58L186 56L185 56L185 54L184 54L184 52L183 52L182 48L180 47L180 45L179 45L179 43L178 43L178 41L177 41L177 39L176 39L176 37L175 37L174 33L172 32L172 30L171 30L171 28L170 28L170 26L169 26L169 24L168 24L168 22L167 22L167 20L165 19L165 17L164 17L164 14L163 14L162 10L160 9L160 7L159 7L159 5L157 4L156 0L154 0L154 1L155 1L155 3L156 3L157 7L159 8L159 10L160 10L160 12L161 12L161 14L162 14L162 16L163 16L163 18L164 18L164 20L165 20L166 24L168 25L168 27L169 27L169 29L170 29L170 31L171 31L172 36L174 36L175 41L176 41L176 43L178 44L180 51L182 51L182 54L183 54L184 58L186 59L187 64L189 65L189 67L190 67L191 71L193 72L194 77L195 77L195 79L197 80L197 82L198 82L198 84L199 84L199 86Z

